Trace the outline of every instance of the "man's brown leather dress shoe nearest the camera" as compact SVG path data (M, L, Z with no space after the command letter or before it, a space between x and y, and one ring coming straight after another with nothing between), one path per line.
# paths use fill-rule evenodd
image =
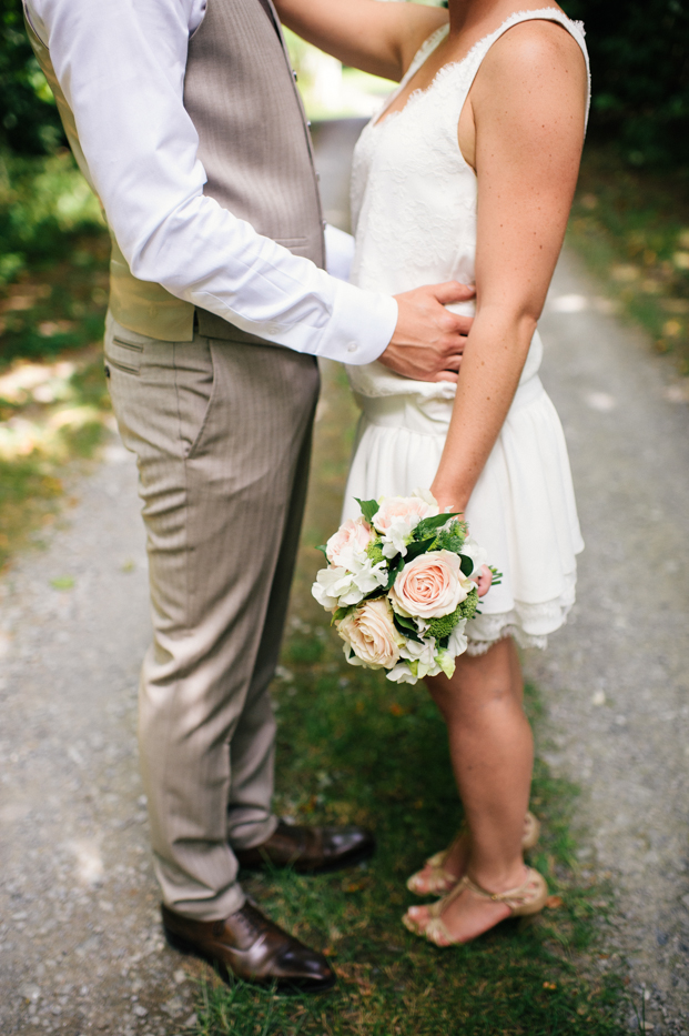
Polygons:
M214 965L225 982L232 976L283 992L322 993L335 983L325 957L273 924L253 903L224 921L192 921L161 906L171 946Z

